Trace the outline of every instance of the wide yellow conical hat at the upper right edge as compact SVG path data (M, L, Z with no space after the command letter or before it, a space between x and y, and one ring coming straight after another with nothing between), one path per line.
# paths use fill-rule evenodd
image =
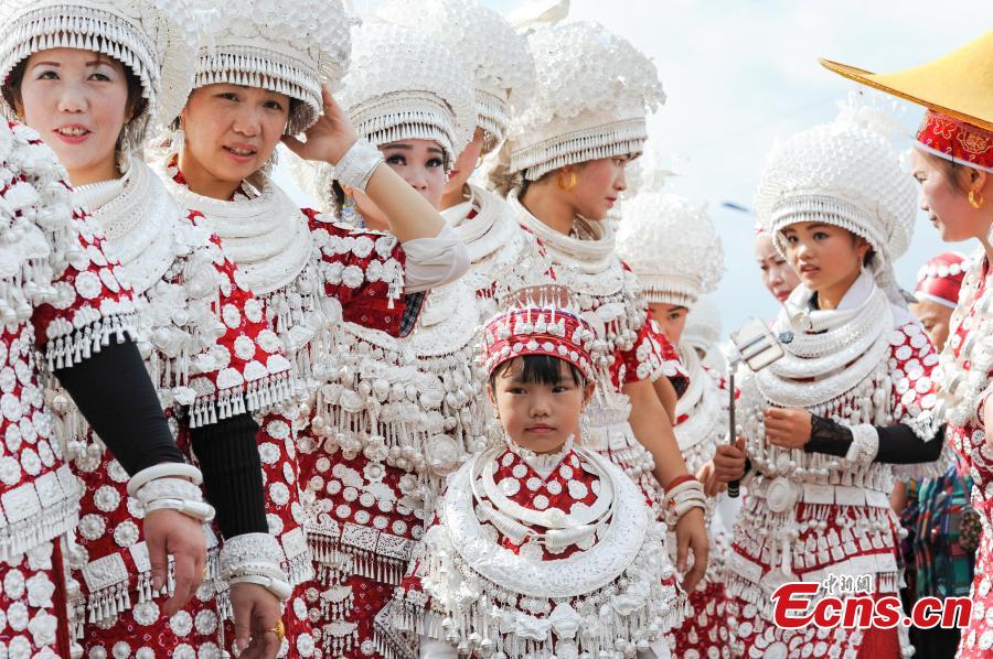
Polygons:
M875 74L820 60L846 78L993 130L993 30L933 62L897 73Z

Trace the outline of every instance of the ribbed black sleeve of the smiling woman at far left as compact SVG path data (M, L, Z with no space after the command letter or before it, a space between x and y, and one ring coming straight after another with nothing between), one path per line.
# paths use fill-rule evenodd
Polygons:
M269 531L257 433L247 412L190 431L204 493L225 538Z

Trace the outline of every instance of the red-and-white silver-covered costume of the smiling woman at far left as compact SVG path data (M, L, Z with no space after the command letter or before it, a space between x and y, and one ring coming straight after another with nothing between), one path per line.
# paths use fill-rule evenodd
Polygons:
M107 245L122 259L135 287L139 349L191 460L191 426L257 413L295 393L282 346L261 304L224 258L221 240L197 213L175 204L143 162L132 158L122 179L83 186L74 199L93 213ZM209 533L210 579L182 611L162 618L162 599L151 597L143 514L127 494L128 474L74 407L66 408L65 395L56 393L55 401L84 484L79 544L71 555L73 575L83 586L78 622L87 656L153 657L157 648L170 647L177 656L221 657L225 638L218 615L229 604L217 572L218 533ZM282 474L267 476L270 488L285 483ZM267 499L274 505L271 489ZM293 537L298 548L306 548L302 528Z

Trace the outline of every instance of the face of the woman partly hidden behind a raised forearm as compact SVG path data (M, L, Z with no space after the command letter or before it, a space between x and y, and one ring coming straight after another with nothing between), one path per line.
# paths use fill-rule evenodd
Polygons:
M394 172L403 176L410 187L430 202L435 208L441 207L441 194L445 192L445 151L437 142L430 140L404 140L380 147ZM389 220L375 202L365 193L352 192L359 212L365 218L365 225L372 229L387 230Z

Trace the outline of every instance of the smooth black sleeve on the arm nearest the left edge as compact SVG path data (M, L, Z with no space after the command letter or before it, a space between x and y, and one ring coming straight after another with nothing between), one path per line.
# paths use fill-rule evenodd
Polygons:
M128 475L163 462L185 462L131 342L110 342L55 377Z

